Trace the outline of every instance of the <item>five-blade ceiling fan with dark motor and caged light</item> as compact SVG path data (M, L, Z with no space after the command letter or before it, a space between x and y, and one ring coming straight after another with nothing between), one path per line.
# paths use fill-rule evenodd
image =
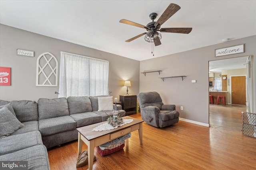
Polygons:
M180 10L180 6L178 6L177 4L170 4L166 10L164 11L164 13L162 14L162 16L160 16L160 18L157 21L154 21L157 17L156 13L151 13L149 15L150 20L152 20L152 22L148 23L146 26L132 22L132 21L128 21L128 20L120 20L120 23L125 23L128 25L132 25L132 26L136 26L136 27L140 27L140 28L144 28L146 29L148 32L142 33L140 35L137 35L131 39L126 40L126 42L130 42L133 41L134 39L137 39L143 35L145 35L144 39L150 43L155 44L155 46L161 45L161 41L160 39L162 38L162 35L160 33L158 33L157 31L160 32L166 32L166 33L185 33L188 34L191 32L192 28L160 28L161 25L167 21L171 16L173 16L178 10Z

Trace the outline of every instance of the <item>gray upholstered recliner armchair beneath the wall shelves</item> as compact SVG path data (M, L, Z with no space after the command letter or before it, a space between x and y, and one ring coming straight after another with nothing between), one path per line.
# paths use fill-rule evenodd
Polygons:
M137 95L142 120L154 127L166 127L178 123L180 113L175 105L163 104L157 92L142 92Z

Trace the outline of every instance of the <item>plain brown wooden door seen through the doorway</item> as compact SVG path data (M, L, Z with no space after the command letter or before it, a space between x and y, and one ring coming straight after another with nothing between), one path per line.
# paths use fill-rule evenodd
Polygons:
M246 79L245 76L231 76L232 104L246 105Z

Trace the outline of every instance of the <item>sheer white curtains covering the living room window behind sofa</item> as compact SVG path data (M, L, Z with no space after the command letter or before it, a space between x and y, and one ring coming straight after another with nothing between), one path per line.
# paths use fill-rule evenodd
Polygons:
M108 94L108 61L61 52L58 97Z

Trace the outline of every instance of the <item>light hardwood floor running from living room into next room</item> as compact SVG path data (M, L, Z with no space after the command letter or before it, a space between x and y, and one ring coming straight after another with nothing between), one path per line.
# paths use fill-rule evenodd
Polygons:
M185 121L156 128L143 123L143 145L138 131L126 140L124 149L100 156L94 150L94 170L255 170L256 138L242 135L241 109L210 106L210 125ZM141 119L140 113L131 115ZM83 150L87 146L83 145ZM48 150L52 170L76 168L78 142Z

